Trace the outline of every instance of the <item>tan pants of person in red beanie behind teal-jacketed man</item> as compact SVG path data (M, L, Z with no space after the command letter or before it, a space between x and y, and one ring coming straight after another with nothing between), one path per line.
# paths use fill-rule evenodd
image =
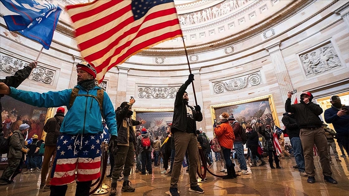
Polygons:
M50 186L51 182L51 171L52 171L52 164L54 159L56 158L56 152L57 152L57 146L45 146L45 152L44 152L44 160L43 160L43 166L41 169L41 183L45 183L46 186ZM50 161L52 157L52 162L50 166ZM49 177L47 177L47 171L49 171L49 166L51 167Z

